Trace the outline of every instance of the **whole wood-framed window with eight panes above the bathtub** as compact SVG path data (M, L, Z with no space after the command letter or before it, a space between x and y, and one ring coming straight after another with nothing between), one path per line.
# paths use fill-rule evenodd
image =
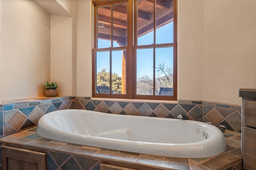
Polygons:
M176 0L94 1L93 97L176 100Z

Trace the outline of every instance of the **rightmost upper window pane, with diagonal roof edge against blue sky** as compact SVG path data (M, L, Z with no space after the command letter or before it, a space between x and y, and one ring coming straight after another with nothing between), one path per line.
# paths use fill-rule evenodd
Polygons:
M173 42L173 1L156 1L156 43Z

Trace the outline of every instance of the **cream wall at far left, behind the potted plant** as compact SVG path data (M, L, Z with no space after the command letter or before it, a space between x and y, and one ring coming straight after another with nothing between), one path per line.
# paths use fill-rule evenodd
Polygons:
M34 1L2 0L2 100L43 96L50 78L50 15Z

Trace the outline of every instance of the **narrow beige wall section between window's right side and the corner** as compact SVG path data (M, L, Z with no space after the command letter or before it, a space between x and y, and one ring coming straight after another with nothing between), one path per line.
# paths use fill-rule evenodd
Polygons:
M204 1L178 1L178 99L202 100Z

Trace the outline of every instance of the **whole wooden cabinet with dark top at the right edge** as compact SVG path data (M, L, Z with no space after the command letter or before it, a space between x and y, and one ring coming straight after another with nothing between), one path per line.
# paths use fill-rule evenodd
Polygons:
M256 89L240 89L242 97L243 169L256 170Z

